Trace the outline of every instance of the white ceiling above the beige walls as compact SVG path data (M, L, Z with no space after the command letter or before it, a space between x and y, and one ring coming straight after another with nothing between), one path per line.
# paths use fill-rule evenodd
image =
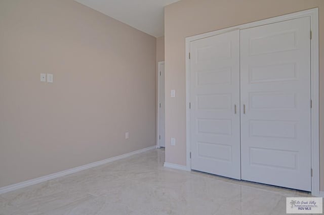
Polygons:
M164 7L179 0L75 0L155 37L164 35Z

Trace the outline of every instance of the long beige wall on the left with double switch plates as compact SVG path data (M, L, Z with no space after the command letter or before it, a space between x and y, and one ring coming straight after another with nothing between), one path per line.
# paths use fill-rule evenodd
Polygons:
M0 187L155 145L155 37L72 0L2 0L0 32Z

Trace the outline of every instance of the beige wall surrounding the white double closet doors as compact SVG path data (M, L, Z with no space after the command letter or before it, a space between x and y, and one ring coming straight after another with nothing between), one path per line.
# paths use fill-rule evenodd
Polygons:
M319 8L320 153L324 190L324 1L323 0L182 0L165 8L166 162L186 165L185 37L310 8Z

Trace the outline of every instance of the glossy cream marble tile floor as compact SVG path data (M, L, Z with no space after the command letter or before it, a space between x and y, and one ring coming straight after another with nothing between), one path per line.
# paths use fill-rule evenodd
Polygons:
M154 149L0 195L0 214L286 214L308 192L163 167Z

